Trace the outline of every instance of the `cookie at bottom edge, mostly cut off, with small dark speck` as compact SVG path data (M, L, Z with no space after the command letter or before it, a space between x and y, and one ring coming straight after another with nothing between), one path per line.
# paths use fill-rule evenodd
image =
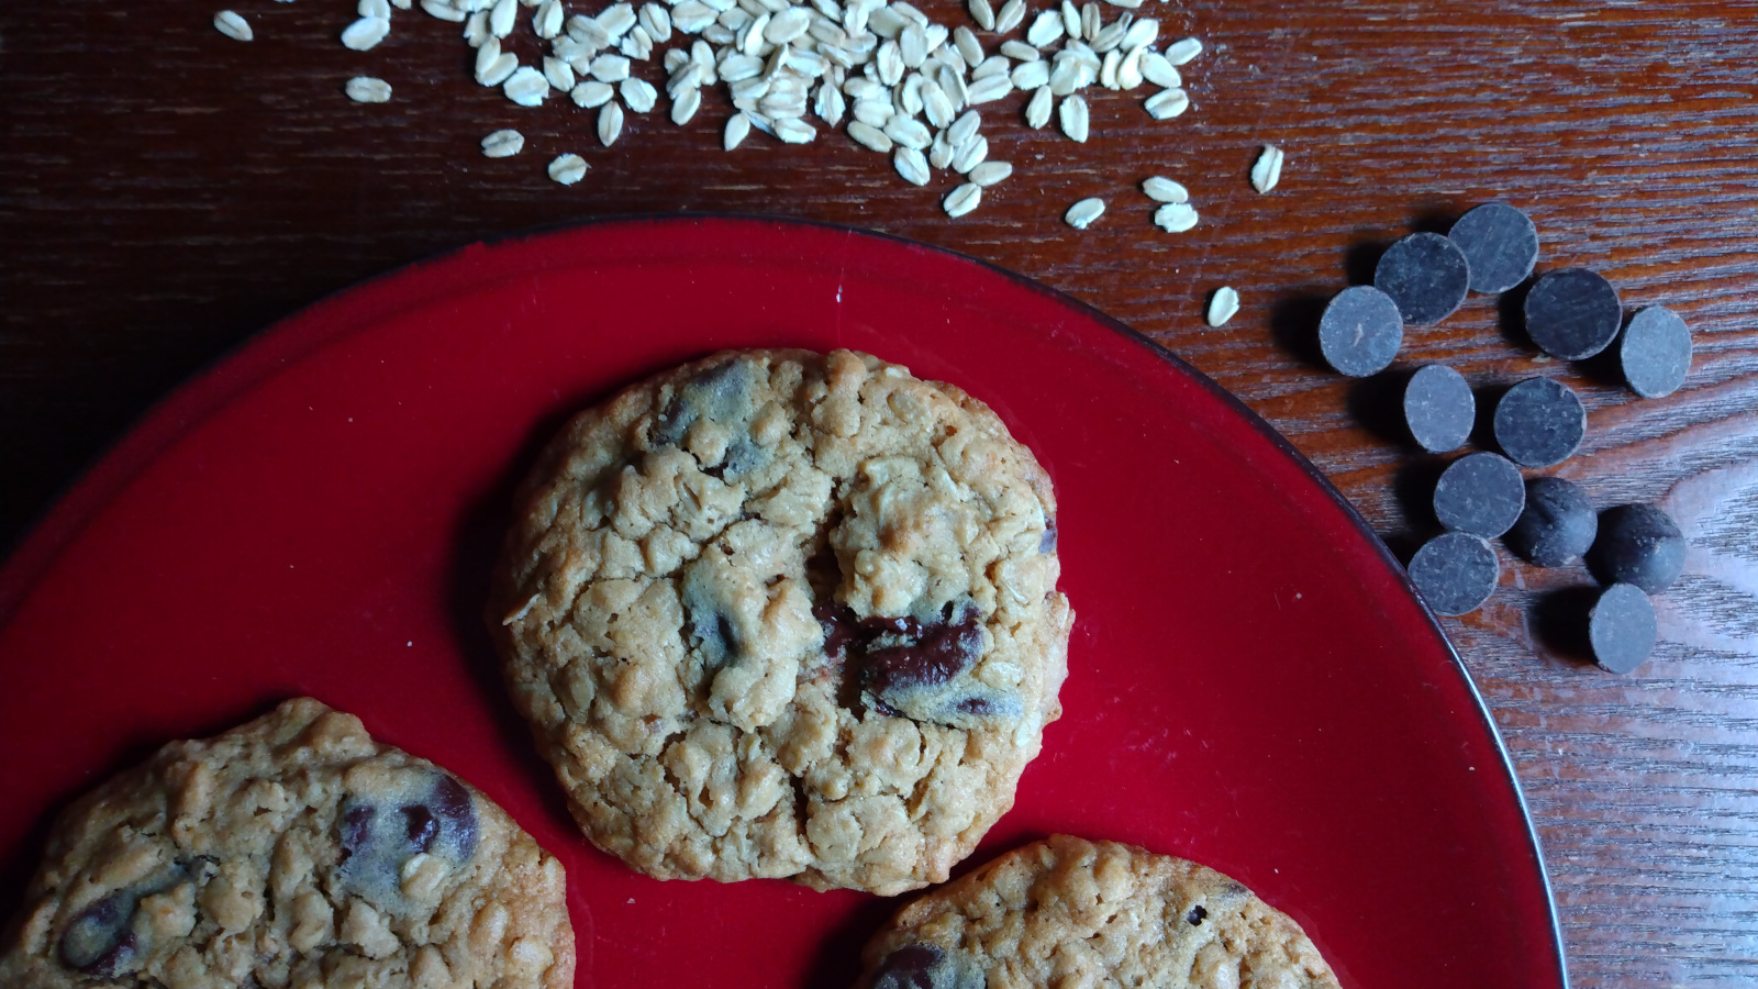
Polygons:
M1065 834L911 903L865 989L1336 989L1299 924L1195 862Z

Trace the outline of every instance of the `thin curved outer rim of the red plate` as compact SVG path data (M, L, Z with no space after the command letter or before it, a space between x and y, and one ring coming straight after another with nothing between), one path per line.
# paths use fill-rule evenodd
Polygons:
M1561 922L1556 908L1556 894L1551 887L1551 876L1544 862L1542 846L1538 841L1538 831L1533 825L1531 810L1526 804L1526 795L1521 790L1519 776L1514 771L1514 760L1508 755L1507 746L1501 741L1501 734L1496 730L1494 720L1491 718L1489 706L1484 702L1484 695L1477 690L1477 683L1471 679L1470 670L1459 658L1457 649L1447 639L1440 623L1435 619L1433 611L1422 602L1422 597L1415 593L1405 574L1403 565L1392 556L1385 542L1373 531L1368 521L1355 510L1355 507L1343 496L1336 486L1320 472L1304 454L1301 454L1280 431L1276 431L1269 422L1266 422L1257 412L1253 412L1245 401L1224 389L1220 384L1211 380L1208 375L1173 354L1171 350L1160 347L1143 333L1134 327L1106 315L1104 311L1081 303L1079 299L1034 282L1020 273L1009 271L979 257L972 257L949 248L925 245L921 241L912 241L909 238L900 238L895 234L886 234L879 231L867 231L860 227L846 227L840 223L826 223L817 220L796 220L784 216L763 216L763 215L745 215L745 213L668 213L668 215L629 215L614 218L587 218L573 220L566 223L556 223L547 227L538 227L531 231L513 232L501 238L489 238L455 248L413 264L387 271L383 275L367 278L364 282L339 289L316 303L311 303L299 311L283 317L271 324L269 327L257 331L241 343L237 343L229 352L216 357L206 368L195 371L188 380L179 384L169 394L153 403L146 412L135 419L135 422L123 431L123 435L105 451L102 451L83 473L70 482L63 493L46 509L39 517L26 528L26 535L18 542L11 556L0 565L0 626L11 623L18 607L25 602L30 590L37 579L54 563L62 549L67 547L79 533L105 509L105 505L128 486L134 477L144 470L155 458L176 440L179 440L188 429L207 419L211 414L222 410L232 398L248 392L262 378L272 375L276 370L299 361L301 357L322 348L323 345L360 333L373 326L376 319L387 315L396 306L387 306L380 299L380 292L374 289L389 282L403 282L411 276L425 276L436 287L431 299L462 294L475 287L476 280L487 280L499 275L499 267L492 275L478 275L471 282L448 282L443 278L448 267L455 267L462 260L476 260L475 255L485 253L490 248L498 252L541 252L545 241L570 232L578 232L582 229L592 229L598 232L614 232L615 227L649 227L659 223L687 223L694 227L701 225L765 225L765 227L807 227L819 231L833 231L856 238L881 239L891 245L909 246L912 250L925 250L932 253L941 253L960 262L976 264L990 273L1000 275L1002 278L1013 282L1021 289L1028 289L1060 306L1072 310L1076 315L1109 327L1113 333L1123 334L1139 347L1148 348L1155 357L1167 364L1173 371L1183 375L1194 384L1201 385L1213 398L1220 399L1232 412L1236 412L1243 421L1262 435L1269 443L1280 451L1283 456L1292 459L1311 480L1313 484L1343 510L1345 517L1355 528L1355 531L1371 544L1380 563L1392 570L1396 582L1410 595L1419 605L1427 619L1427 630L1435 641L1442 646L1447 656L1452 660L1452 670L1459 678L1471 699L1477 718L1482 730L1494 743L1496 755L1501 760L1501 776L1507 783L1515 804L1519 806L1521 818L1526 829L1526 841L1533 852L1533 862L1538 871L1538 885L1544 890L1545 906L1551 920L1551 943L1556 954L1556 975L1558 985L1561 989L1570 987L1566 956L1563 949ZM512 260L503 257L503 260ZM529 271L531 267L526 266Z

